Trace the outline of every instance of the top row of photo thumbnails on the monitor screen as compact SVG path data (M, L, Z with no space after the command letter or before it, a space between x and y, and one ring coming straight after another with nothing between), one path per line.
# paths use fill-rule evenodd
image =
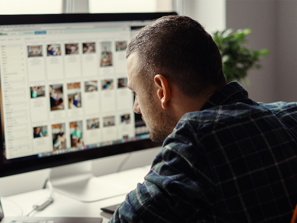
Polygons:
M102 42L101 44L101 66L112 65L112 42ZM47 56L61 56L61 44L49 44L47 46ZM82 54L95 54L97 52L96 43L79 43L64 44L65 55L78 55L80 47ZM124 51L127 48L127 41L115 42L115 51ZM28 46L28 57L44 56L43 45Z

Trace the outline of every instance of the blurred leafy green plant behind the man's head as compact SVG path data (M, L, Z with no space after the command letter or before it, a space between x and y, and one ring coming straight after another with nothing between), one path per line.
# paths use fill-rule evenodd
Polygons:
M217 31L213 35L213 40L222 54L223 71L228 82L244 80L248 83L247 71L251 68L261 68L258 63L260 58L270 53L267 49L251 51L243 46L247 42L246 35L250 32L250 29L240 29L236 32L227 29Z

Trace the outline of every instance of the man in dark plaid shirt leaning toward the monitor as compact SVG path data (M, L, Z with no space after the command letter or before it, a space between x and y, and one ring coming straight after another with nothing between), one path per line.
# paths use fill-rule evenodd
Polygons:
M162 17L127 47L128 86L153 141L143 184L110 223L288 223L297 203L297 103L226 83L211 36Z

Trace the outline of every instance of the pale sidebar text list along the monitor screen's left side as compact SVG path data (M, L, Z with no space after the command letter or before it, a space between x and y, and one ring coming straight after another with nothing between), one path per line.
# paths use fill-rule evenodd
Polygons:
M30 128L29 96L27 94L25 47L0 46L0 84L6 158L30 155L32 131Z

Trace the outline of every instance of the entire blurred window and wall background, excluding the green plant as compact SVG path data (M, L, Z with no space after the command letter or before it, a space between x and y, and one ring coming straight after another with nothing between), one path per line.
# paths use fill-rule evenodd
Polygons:
M211 34L250 28L246 47L270 51L262 69L248 72L250 98L297 101L297 0L0 0L0 14L162 11L190 16Z

